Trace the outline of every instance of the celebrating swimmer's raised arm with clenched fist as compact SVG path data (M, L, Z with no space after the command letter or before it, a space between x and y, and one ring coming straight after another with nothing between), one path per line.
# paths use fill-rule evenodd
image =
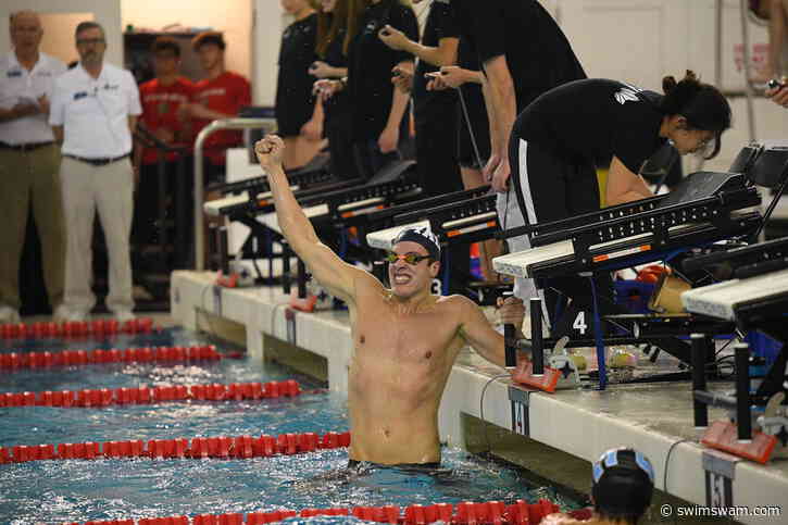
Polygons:
M276 135L267 135L254 145L258 161L268 174L282 233L321 285L333 296L349 303L354 302L355 279L366 274L339 259L317 238L312 223L304 215L287 182L282 166L284 151L285 142Z

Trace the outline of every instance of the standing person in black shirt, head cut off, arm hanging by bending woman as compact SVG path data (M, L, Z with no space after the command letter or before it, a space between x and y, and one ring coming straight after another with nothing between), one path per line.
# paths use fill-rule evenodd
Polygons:
M460 38L478 54L484 70L485 103L491 155L484 170L498 191L503 229L525 225L524 207L509 187L509 138L517 114L541 93L586 77L572 46L537 0L452 0ZM525 236L509 239L510 252L527 247ZM536 289L515 279L514 295L526 299Z

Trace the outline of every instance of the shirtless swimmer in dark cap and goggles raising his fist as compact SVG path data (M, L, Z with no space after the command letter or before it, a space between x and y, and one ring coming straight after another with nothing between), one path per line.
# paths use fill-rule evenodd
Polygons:
M317 238L290 191L282 167L284 149L273 135L254 146L268 174L282 232L317 282L350 312L351 465L437 465L438 405L454 359L470 345L503 366L503 336L470 299L430 292L440 248L429 232L406 230L393 246L388 257L391 289L339 259ZM500 305L501 321L517 328L524 313L515 298Z

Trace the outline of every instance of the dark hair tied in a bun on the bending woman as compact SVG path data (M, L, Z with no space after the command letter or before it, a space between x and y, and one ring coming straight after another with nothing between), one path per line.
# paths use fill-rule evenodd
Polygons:
M667 115L681 115L690 129L714 133L714 151L706 158L713 159L720 153L720 137L730 127L730 104L725 96L711 84L701 83L696 74L687 71L681 80L672 76L662 79L660 109Z

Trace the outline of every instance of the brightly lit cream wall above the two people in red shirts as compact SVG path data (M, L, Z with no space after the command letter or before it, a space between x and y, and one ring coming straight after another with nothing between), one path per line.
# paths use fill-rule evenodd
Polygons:
M136 30L179 24L224 32L227 68L252 78L252 0L122 0L121 16Z

